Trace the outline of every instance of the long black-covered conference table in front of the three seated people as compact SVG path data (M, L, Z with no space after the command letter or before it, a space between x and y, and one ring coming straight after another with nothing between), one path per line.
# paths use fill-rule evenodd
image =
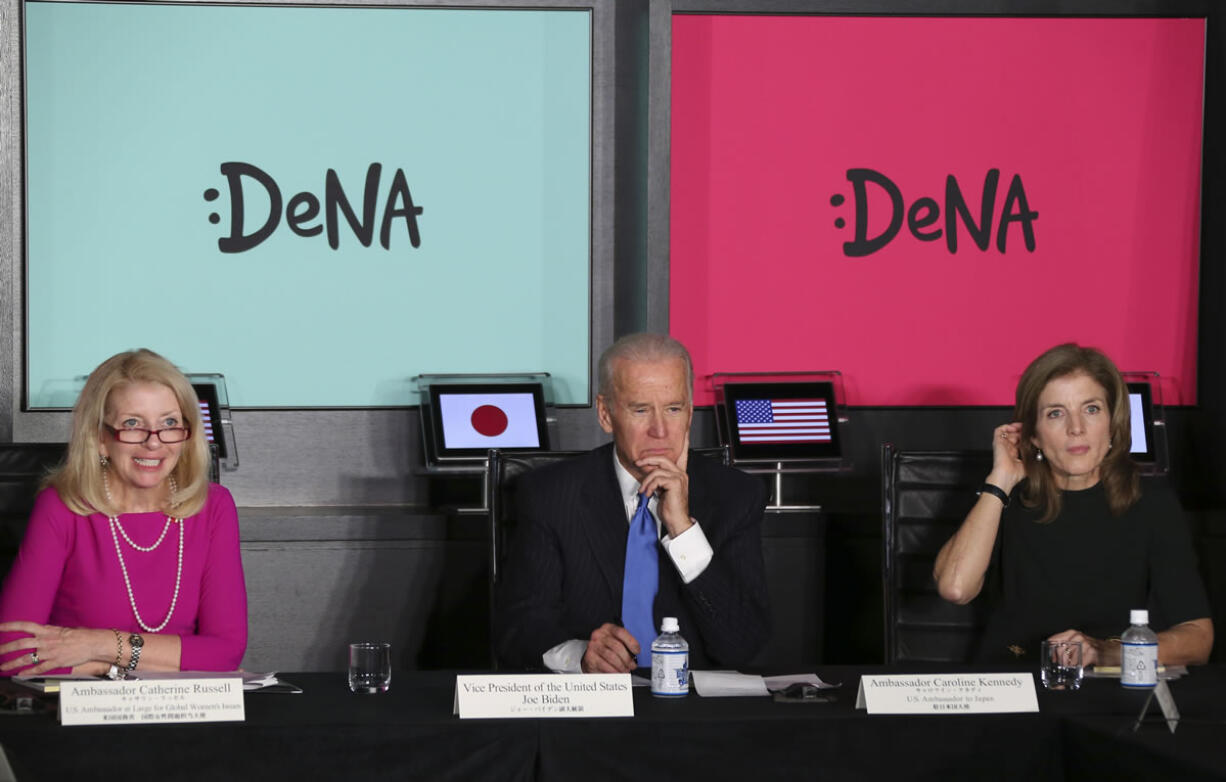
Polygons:
M1171 683L1182 712L1175 734L1156 705L1133 732L1144 695L1110 679L1086 679L1078 693L1040 688L1038 713L855 708L861 674L917 672L819 667L843 685L832 704L693 693L672 701L635 688L635 716L606 719L459 719L447 672L397 672L383 695L352 695L341 673L286 673L305 691L246 694L243 723L61 727L50 713L6 715L0 746L18 782L1226 780L1226 667L1193 668Z

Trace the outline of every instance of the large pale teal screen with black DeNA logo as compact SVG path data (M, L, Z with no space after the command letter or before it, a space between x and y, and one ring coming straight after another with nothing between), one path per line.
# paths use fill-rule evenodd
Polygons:
M31 408L134 347L234 407L587 402L591 10L25 9Z

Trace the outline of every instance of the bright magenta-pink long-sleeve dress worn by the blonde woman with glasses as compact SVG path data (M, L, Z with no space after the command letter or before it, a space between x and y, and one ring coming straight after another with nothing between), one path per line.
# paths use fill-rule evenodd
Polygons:
M166 514L124 514L119 522L132 542L150 547L166 527ZM237 669L246 650L246 586L234 498L217 484L208 487L204 509L183 525L172 525L152 552L137 550L118 532L113 537L102 514L80 516L64 505L55 489L44 489L34 500L26 537L0 590L0 621L147 634L132 612L114 539L119 541L141 618L157 626L174 594L180 526L179 598L161 632L179 636L183 670ZM23 636L0 632L0 643ZM18 651L4 659L27 653Z

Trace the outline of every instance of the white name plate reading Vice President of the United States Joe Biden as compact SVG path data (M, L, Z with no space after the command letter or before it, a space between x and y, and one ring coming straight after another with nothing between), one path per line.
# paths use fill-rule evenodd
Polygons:
M461 719L506 717L633 717L628 673L542 673L456 677Z

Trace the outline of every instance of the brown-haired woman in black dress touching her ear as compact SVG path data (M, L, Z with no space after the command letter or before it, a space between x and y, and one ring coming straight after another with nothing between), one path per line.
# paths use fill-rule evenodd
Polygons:
M1034 658L1051 639L1117 666L1129 609L1148 608L1161 663L1206 662L1214 626L1183 510L1138 476L1116 365L1072 343L1047 351L1018 382L1014 419L993 433L992 472L933 569L945 599L993 601L980 657Z

